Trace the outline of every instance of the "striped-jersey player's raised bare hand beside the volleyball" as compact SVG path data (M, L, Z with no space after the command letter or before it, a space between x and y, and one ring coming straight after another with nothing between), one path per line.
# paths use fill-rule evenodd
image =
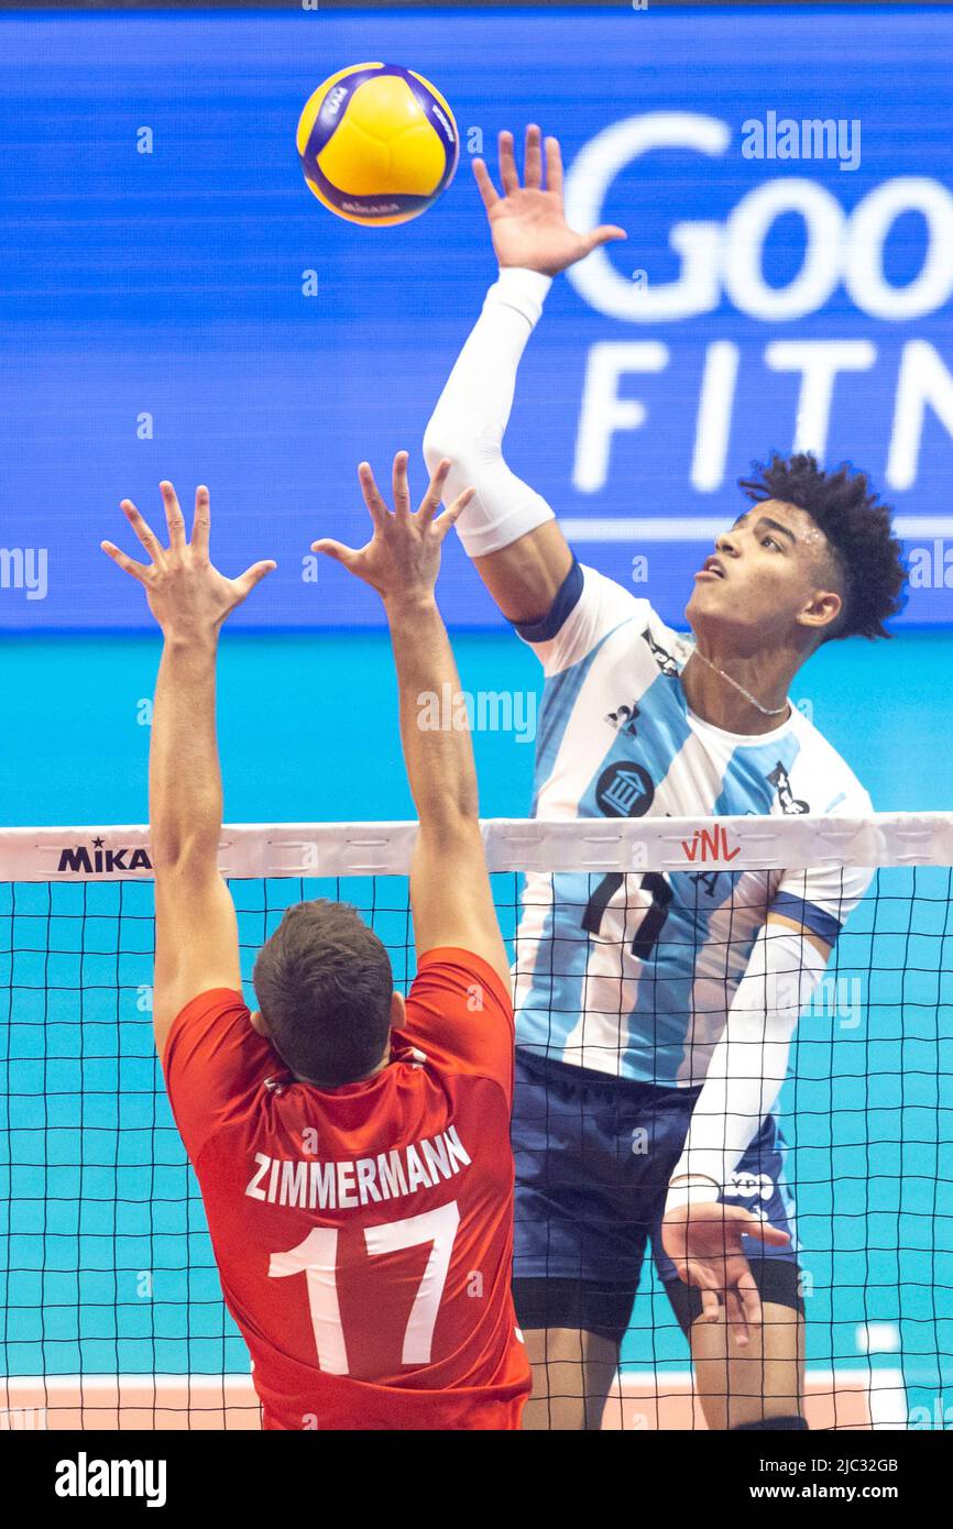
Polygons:
M500 133L500 182L499 196L490 171L482 159L473 161L493 248L502 266L526 266L554 277L577 260L584 260L600 245L610 239L626 239L626 229L615 223L603 223L589 234L577 234L569 228L563 213L563 159L558 138L548 138L546 188L543 190L543 144L540 128L531 122L526 128L526 164L523 185L516 168L512 133Z

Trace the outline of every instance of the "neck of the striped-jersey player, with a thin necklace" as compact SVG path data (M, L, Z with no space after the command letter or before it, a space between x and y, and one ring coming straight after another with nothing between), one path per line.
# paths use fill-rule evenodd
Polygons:
M699 636L682 670L682 690L694 716L713 728L774 732L791 716L788 687L795 668L788 654L725 653Z

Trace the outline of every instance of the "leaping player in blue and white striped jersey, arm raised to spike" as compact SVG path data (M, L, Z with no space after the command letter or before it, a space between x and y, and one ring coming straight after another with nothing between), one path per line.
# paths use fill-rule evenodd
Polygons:
M552 277L598 245L561 205L558 142L500 135L482 161L499 280L427 427L457 529L543 664L532 810L545 818L863 815L870 798L788 700L831 638L883 636L903 566L889 511L846 468L774 457L742 488L667 628L581 567L508 468L516 373ZM543 180L546 183L543 183ZM517 948L517 1315L534 1361L526 1425L598 1427L652 1245L690 1335L710 1427L800 1428L803 1300L772 1109L789 1041L863 872L707 872L526 881Z

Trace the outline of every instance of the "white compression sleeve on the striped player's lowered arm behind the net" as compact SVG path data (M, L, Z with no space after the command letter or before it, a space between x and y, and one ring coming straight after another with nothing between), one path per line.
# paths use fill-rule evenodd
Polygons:
M803 934L779 924L765 924L759 931L672 1173L673 1180L698 1174L714 1183L673 1183L668 1209L687 1200L714 1200L716 1185L731 1182L777 1101L791 1037L825 966L825 957Z

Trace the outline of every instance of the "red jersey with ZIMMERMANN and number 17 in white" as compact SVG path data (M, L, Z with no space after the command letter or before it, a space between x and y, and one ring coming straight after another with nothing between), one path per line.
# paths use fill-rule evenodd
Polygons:
M297 1083L239 992L177 1015L165 1083L265 1428L519 1428L512 1067L509 995L462 950L341 1089Z

